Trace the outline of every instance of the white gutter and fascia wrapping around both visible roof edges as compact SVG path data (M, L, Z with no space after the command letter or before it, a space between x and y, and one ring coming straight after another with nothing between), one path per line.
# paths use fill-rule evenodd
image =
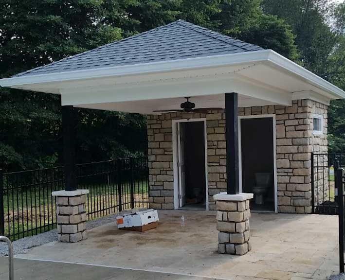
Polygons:
M0 79L1 87L23 88L23 85L41 84L51 82L64 82L73 80L85 80L104 77L141 75L148 73L163 73L181 70L193 70L201 68L215 68L245 63L268 63L280 70L285 70L288 74L294 74L305 82L320 88L333 98L345 98L345 92L299 66L284 56L272 50L254 51L247 53L233 53L224 55L213 55L204 57L187 58L172 61L134 64L118 67L107 67L90 70L78 70L61 73L40 74L31 76L19 76L13 78ZM39 87L37 85L37 87ZM33 89L34 90L34 89ZM326 94L325 94L326 95Z

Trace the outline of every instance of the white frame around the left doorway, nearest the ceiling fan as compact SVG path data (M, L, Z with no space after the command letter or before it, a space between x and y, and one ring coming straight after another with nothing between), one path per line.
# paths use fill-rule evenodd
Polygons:
M174 209L180 208L179 203L179 168L178 163L178 141L177 141L177 125L187 122L203 122L204 123L204 138L205 138L205 185L206 185L206 210L208 210L208 180L207 180L207 133L206 133L206 118L197 119L180 119L172 120L172 144L173 144L173 170L174 170Z

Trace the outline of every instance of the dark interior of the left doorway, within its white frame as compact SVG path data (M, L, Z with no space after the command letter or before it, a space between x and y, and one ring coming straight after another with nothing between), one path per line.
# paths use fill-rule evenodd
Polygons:
M180 123L180 207L206 208L204 122ZM181 193L182 192L182 193Z

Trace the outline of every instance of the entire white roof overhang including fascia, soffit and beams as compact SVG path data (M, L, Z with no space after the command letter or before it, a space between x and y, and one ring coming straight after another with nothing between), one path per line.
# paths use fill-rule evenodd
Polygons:
M119 110L127 102L129 109L125 111L134 110L134 103L130 102L233 91L242 95L243 100L256 100L253 104L247 102L248 106L261 105L260 100L291 105L295 99L328 104L331 99L345 98L342 89L272 50L24 75L0 79L0 86L61 94L63 105L77 107ZM211 103L219 106L219 102Z

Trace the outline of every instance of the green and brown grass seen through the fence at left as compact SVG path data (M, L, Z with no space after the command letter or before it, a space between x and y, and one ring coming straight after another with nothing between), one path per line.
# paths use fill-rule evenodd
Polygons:
M86 202L86 212L89 219L95 219L118 211L117 186L114 184L81 185L79 189L91 190ZM12 240L25 236L35 235L55 227L56 220L55 200L51 196L52 190L12 190L4 194L5 235ZM146 181L134 184L134 207L145 208L148 201ZM92 203L91 203L92 202ZM123 210L130 209L130 184L125 182L122 186ZM92 213L92 214L91 214Z

